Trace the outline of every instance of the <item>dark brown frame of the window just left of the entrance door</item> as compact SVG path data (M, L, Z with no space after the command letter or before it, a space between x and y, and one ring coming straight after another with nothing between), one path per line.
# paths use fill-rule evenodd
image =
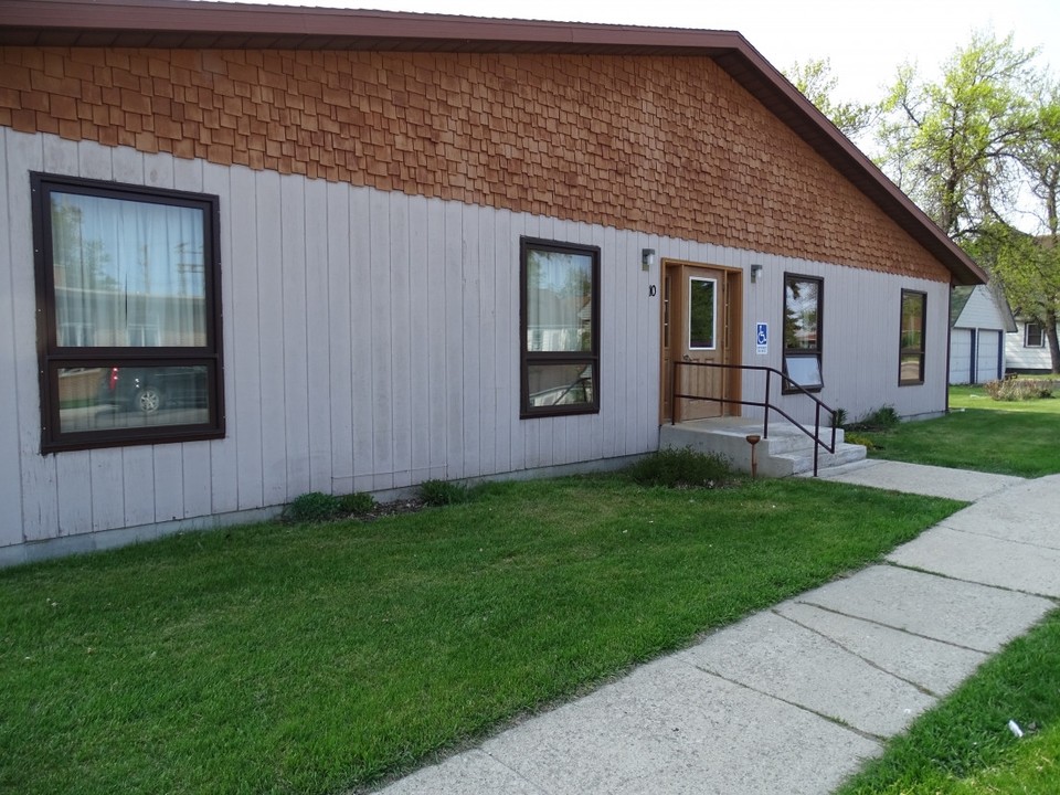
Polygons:
M531 251L556 252L561 254L576 254L592 257L592 318L590 333L592 335L592 350L590 351L531 351L527 347L527 331L529 328L528 290L527 290L527 255ZM571 414L600 413L600 246L582 245L577 243L562 243L539 237L519 239L519 378L520 378L520 418L566 416ZM560 406L530 405L530 375L531 364L577 364L587 363L593 367L593 400L590 403L568 404Z

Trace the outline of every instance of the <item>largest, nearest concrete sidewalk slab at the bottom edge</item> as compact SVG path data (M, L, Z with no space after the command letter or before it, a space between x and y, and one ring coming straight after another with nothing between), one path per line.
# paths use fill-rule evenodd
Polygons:
M879 745L668 658L516 727L481 751L537 787L527 792L549 795L810 795L837 786ZM434 778L425 788L384 792L451 792L447 771Z

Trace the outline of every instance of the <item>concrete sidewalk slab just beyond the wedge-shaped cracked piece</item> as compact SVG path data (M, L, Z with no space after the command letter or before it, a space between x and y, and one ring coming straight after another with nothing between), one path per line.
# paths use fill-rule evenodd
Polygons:
M798 601L986 654L1054 606L1039 596L891 565L870 566Z

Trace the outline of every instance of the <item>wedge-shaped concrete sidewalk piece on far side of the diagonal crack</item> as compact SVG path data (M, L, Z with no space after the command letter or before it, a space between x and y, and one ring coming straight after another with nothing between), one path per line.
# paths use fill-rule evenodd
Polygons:
M932 696L948 693L987 658L982 651L833 613L798 600L778 605L775 612Z

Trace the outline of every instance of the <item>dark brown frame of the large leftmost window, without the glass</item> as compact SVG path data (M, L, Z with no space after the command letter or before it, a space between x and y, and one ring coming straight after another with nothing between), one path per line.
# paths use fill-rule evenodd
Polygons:
M33 251L36 278L38 361L41 390L41 453L153 445L222 438L225 434L224 369L221 335L221 210L220 198L162 188L124 184L80 177L30 173ZM51 194L78 193L193 208L202 211L203 263L206 267L205 340L201 347L73 347L61 346L56 327ZM66 368L205 367L208 421L187 425L107 428L63 433L60 424L59 372Z

